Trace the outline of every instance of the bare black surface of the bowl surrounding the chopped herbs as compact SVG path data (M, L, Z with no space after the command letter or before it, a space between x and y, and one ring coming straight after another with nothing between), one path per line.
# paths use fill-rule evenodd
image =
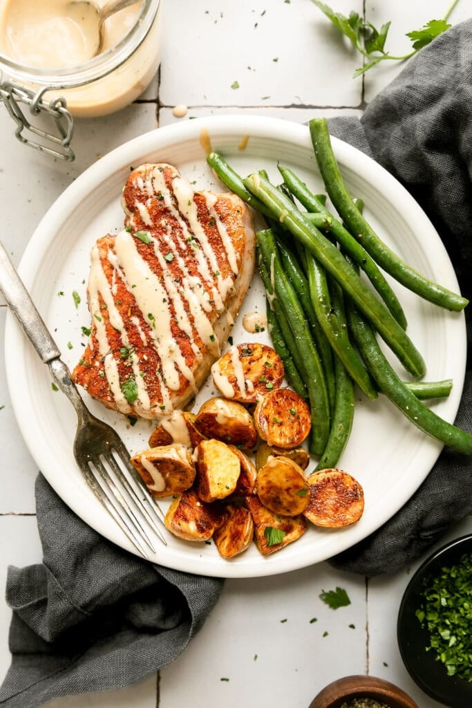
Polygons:
M448 676L434 651L426 651L430 632L421 627L415 612L422 604L424 579L437 575L444 566L454 565L464 553L470 552L472 534L461 536L435 551L411 578L398 612L398 647L408 673L427 695L449 708L472 708L472 682Z

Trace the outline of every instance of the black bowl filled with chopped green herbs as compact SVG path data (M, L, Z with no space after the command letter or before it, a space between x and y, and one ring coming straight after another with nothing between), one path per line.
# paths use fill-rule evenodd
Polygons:
M472 706L472 535L434 552L408 583L398 646L411 677L450 708Z

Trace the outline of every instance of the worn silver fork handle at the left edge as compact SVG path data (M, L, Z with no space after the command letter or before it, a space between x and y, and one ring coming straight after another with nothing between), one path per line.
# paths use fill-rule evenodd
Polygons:
M61 352L1 242L0 291L42 361L47 364L52 359L57 359Z

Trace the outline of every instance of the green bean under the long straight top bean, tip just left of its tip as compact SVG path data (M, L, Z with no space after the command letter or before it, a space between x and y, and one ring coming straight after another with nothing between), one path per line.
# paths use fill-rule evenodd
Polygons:
M372 384L372 379L349 340L344 313L340 306L338 282L333 281L331 283L331 290L334 295L332 302L326 273L323 268L320 268L318 263L316 263L316 259L311 256L311 253L307 253L306 268L308 271L311 303L313 304L313 309L316 312L316 316L326 334L328 342L361 391L367 398L372 400L376 399L377 392ZM334 306L334 302L337 302L336 307Z

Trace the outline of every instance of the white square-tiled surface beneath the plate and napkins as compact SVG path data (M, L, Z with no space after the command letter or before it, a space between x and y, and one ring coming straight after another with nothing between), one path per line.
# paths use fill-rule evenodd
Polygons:
M362 11L361 0L331 0L337 11ZM408 50L405 32L442 16L445 0L365 3L376 25L392 20L388 48ZM309 0L166 0L159 76L137 103L108 118L76 124L73 164L53 161L13 138L0 105L1 239L18 263L47 208L86 167L125 140L192 116L251 113L306 122L313 115L361 115L365 102L401 71L384 62L352 79L359 57ZM470 14L460 0L451 15ZM236 87L236 83L237 87ZM232 88L234 86L234 88ZM188 106L175 118L176 104ZM12 206L13 205L13 206ZM1 302L1 301L0 301ZM5 307L0 307L3 349ZM6 391L0 356L0 586L6 567L40 561L33 487L35 462L26 450ZM26 514L26 515L25 515ZM471 530L470 520L451 536ZM308 707L323 685L350 673L398 683L421 708L439 708L408 677L396 646L396 614L410 574L366 581L320 564L275 578L231 580L200 634L158 681L155 676L117 692L56 700L49 708ZM346 588L351 604L338 610L321 590ZM3 593L2 593L3 594ZM0 602L0 678L10 661L10 612ZM316 618L316 622L311 620ZM353 625L353 627L350 627ZM323 636L327 632L326 636ZM228 680L221 680L228 679ZM28 707L25 707L28 708Z

